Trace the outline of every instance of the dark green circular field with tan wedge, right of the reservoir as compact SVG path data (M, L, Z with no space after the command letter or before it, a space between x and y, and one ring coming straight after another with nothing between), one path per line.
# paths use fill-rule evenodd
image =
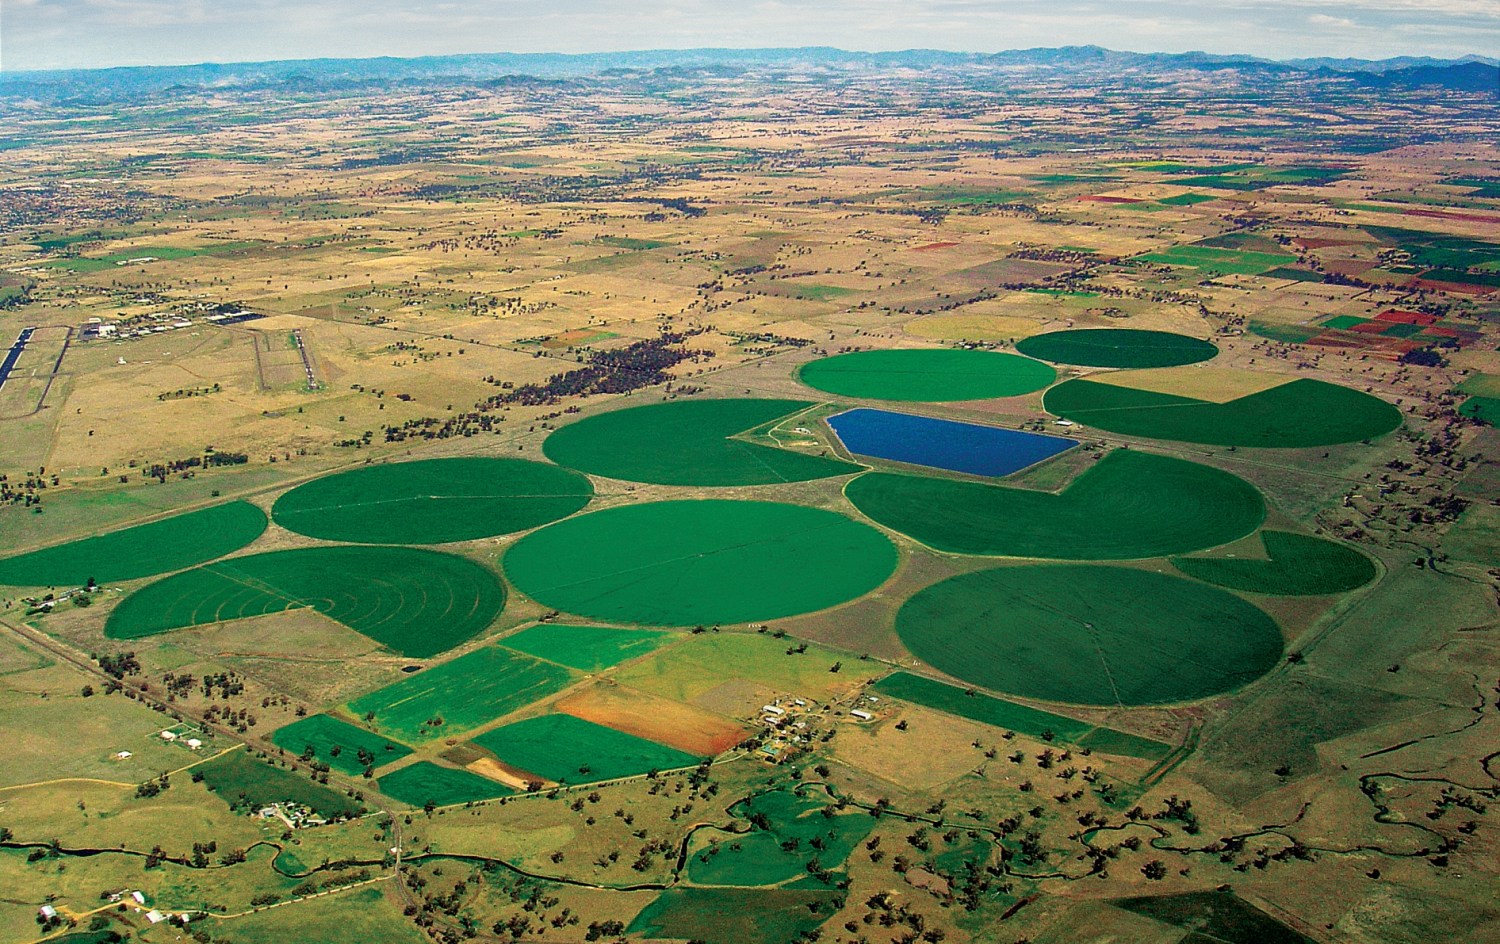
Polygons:
M1047 390L1042 407L1122 435L1209 446L1332 446L1371 440L1401 426L1401 411L1386 401L1310 378L1227 404L1070 380Z

